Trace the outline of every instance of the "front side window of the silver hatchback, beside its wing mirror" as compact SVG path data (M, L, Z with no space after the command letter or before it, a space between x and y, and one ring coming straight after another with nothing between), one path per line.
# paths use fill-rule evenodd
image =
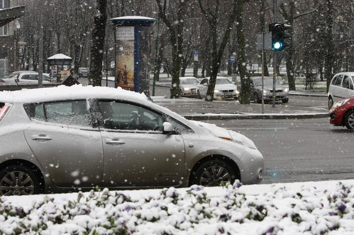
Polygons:
M119 101L99 101L103 128L121 131L163 130L162 115L147 108Z

